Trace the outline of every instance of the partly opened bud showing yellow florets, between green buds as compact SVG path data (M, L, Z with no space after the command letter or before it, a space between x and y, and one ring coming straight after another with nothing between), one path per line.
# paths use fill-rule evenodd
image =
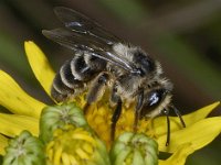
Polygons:
M105 144L83 128L66 125L54 131L46 144L48 165L109 165Z

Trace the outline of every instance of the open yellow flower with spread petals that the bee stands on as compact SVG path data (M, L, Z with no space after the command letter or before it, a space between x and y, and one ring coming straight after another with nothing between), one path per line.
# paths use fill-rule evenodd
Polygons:
M33 43L24 44L27 56L31 68L50 96L51 84L54 78L54 72L51 68L43 52ZM84 97L76 98L80 107L85 103ZM39 134L39 118L45 103L32 98L24 92L21 87L4 72L0 70L0 105L6 107L12 114L0 113L0 133L13 138L23 130L32 134ZM138 132L144 132L155 139L160 152L172 153L168 160L159 161L159 164L185 164L189 154L209 144L221 131L221 118L207 116L220 102L214 102L192 113L183 116L187 128L182 128L177 117L170 117L171 139L169 146L166 146L167 129L166 118L156 118L152 122L141 120ZM86 116L90 125L97 132L109 147L110 117L113 110L109 110L104 100L92 106ZM133 130L134 112L133 109L123 110L119 121L116 125L116 135L125 131ZM4 154L7 138L0 134L0 154Z

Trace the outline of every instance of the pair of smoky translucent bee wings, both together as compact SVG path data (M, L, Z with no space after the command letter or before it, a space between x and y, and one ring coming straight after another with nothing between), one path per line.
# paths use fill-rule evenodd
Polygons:
M42 33L59 44L74 50L86 51L91 55L110 62L128 72L133 70L131 64L114 54L113 44L120 40L109 34L85 15L63 7L55 8L55 14L64 23L65 28Z

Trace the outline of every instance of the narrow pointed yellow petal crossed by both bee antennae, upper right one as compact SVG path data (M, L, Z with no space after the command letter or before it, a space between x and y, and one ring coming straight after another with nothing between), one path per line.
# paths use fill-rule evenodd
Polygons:
M204 119L215 107L218 107L220 102L214 102L212 105L209 105L207 107L203 107L192 113L188 113L186 116L182 116L185 123L187 127ZM159 117L156 118L152 121L152 128L155 132L155 136L160 136L164 134L167 134L167 119L166 117ZM180 122L180 119L178 117L170 117L170 131L177 131L183 129Z

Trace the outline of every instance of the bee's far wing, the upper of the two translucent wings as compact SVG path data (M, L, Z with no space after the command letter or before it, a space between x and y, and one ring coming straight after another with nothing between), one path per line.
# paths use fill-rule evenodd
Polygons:
M77 11L64 7L56 7L54 8L54 13L61 22L72 31L94 36L108 45L123 42L104 30L98 23L92 21L90 18L78 13Z

